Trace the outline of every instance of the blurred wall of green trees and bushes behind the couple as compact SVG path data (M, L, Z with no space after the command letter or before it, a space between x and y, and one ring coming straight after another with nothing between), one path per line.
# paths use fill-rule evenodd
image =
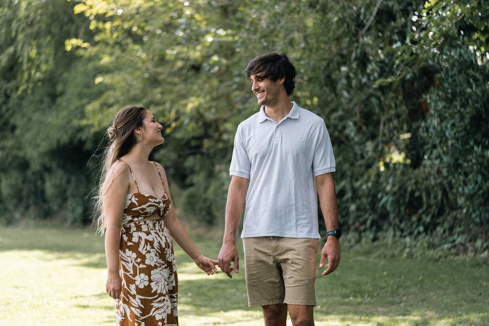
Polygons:
M0 223L90 224L104 132L137 103L181 215L222 227L259 109L243 70L276 51L329 129L349 241L488 255L488 36L484 0L2 0Z

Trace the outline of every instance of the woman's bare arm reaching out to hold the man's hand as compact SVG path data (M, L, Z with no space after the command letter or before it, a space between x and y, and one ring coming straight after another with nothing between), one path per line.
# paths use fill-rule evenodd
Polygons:
M168 186L165 169L163 169L159 163L157 163L157 167L163 178L167 196L170 198L170 202L172 204L172 209L168 212L167 216L165 216L165 225L170 231L170 235L178 243L178 246L180 246L180 248L182 248L183 251L194 260L195 264L207 273L207 275L214 273L217 274L218 270L215 268L215 265L218 263L218 261L205 257L200 253L194 242L192 242L187 232L183 228L180 220L178 220L177 214L175 213L175 206L173 205L172 201L172 196L170 194L170 187Z

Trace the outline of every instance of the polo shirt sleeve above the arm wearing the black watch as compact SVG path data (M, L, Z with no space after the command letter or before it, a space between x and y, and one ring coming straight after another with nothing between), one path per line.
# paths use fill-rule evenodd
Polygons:
M312 163L314 176L336 171L335 155L331 146L330 135L324 121L316 133L316 146Z

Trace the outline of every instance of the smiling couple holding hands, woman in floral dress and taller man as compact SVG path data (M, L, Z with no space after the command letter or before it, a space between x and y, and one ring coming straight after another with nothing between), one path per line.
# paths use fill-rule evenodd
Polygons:
M164 143L162 126L142 106L119 111L107 130L98 193L98 229L105 232L107 293L117 325L178 325L178 278L172 238L207 275L238 273L235 236L244 212L248 304L265 325L314 325L317 198L327 227L319 267L340 260L335 158L324 120L289 100L295 68L285 54L253 59L246 78L260 111L238 125L218 260L188 237L173 206L165 169L149 161ZM232 263L232 264L231 264Z

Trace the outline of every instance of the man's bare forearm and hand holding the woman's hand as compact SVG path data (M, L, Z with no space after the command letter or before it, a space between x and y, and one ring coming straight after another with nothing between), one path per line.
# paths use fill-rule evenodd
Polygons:
M238 273L239 255L236 249L236 231L243 212L248 179L233 176L228 188L228 200L226 202L226 220L224 227L223 247L219 252L218 261L221 270L232 278L231 271ZM231 261L233 267L231 267Z

